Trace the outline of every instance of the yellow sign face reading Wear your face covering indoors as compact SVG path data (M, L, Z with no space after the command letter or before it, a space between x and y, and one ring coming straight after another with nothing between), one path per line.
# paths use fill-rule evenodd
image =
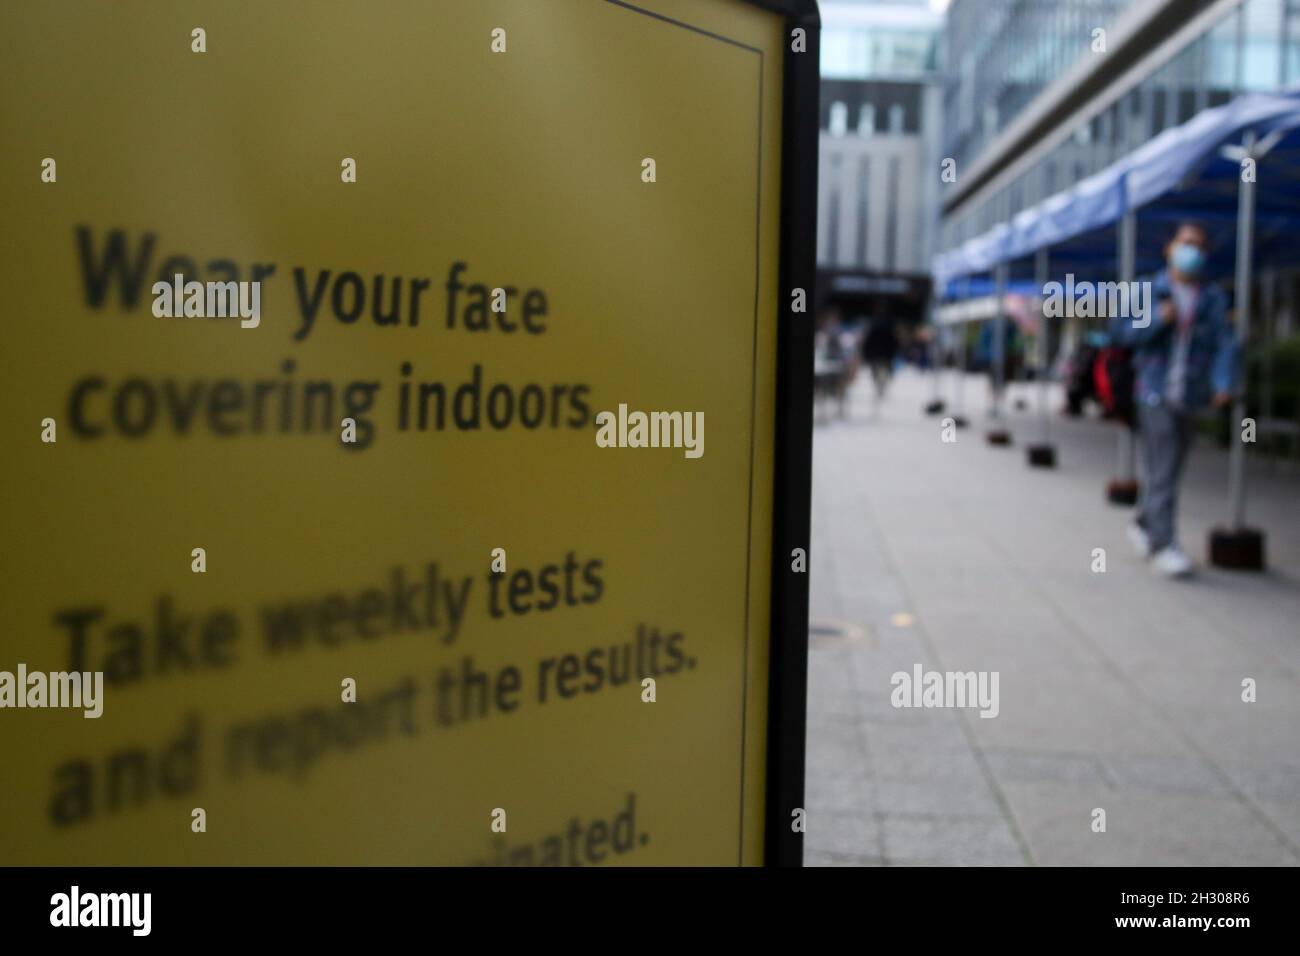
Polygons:
M0 862L762 861L783 39L0 7Z

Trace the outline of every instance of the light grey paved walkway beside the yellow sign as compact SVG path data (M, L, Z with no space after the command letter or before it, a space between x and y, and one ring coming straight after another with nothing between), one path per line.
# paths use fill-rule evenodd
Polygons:
M1008 415L1015 444L994 447L983 378L956 444L922 414L919 373L879 418L863 385L814 440L805 862L1300 864L1295 464L1251 468L1270 571L1206 570L1227 464L1197 445L1180 533L1199 568L1167 581L1104 499L1112 427L1053 414L1058 467L1031 470L1028 386L1013 389L1031 410ZM916 663L998 671L998 715L893 708L890 675Z

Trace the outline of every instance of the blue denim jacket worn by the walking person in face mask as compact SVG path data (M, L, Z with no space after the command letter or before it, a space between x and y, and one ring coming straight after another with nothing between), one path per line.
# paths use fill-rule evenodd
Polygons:
M1161 321L1157 303L1170 291L1169 272L1152 280L1150 324L1139 329L1132 319L1112 319L1110 338L1134 350L1138 401L1160 405L1173 358L1178 324ZM1202 285L1187 343L1186 388L1182 407L1197 411L1216 392L1232 392L1236 381L1236 332L1227 320L1227 295L1216 285Z

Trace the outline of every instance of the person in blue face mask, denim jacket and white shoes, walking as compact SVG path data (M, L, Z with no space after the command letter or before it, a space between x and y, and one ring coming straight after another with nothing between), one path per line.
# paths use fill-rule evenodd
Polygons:
M1145 476L1138 516L1128 527L1134 548L1170 576L1191 572L1178 544L1178 484L1196 416L1232 402L1236 337L1227 297L1205 284L1209 237L1199 222L1183 222L1165 247L1167 268L1152 280L1156 315L1145 328L1134 319L1112 323L1113 338L1134 350L1138 432Z

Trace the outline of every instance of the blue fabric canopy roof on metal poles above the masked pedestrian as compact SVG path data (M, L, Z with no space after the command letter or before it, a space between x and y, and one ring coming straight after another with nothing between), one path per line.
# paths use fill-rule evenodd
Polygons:
M1011 278L1032 278L1034 252L1049 247L1053 274L1080 278L1115 274L1115 222L1127 209L1138 216L1136 273L1153 272L1173 225L1199 219L1210 230L1210 274L1231 272L1240 163L1221 155L1245 130L1277 137L1256 170L1256 260L1300 261L1294 242L1300 226L1300 90L1239 96L1173 126L1071 189L1022 209L982 235L940 254L935 285L948 298L966 298L962 276L988 273L1010 263Z

